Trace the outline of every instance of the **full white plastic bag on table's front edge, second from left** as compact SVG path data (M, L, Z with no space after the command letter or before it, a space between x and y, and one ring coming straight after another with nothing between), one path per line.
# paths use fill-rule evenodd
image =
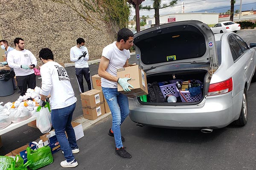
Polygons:
M13 123L17 123L29 119L29 117L31 117L31 113L26 107L18 107L11 108L9 116Z

